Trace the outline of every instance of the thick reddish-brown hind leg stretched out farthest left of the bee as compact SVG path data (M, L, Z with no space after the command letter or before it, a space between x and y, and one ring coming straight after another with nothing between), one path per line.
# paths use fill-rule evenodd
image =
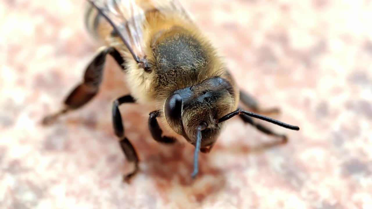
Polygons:
M53 123L59 116L64 115L70 110L75 110L88 103L96 96L102 82L103 68L106 55L110 54L116 62L124 69L124 60L115 48L109 47L102 49L87 66L83 82L78 84L64 101L64 107L57 113L48 115L42 120L43 125Z

